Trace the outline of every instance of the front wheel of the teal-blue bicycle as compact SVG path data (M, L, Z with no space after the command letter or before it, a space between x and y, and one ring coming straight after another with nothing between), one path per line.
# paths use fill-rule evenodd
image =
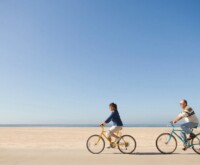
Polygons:
M156 148L163 154L172 154L177 148L177 140L169 133L163 133L156 139ZM170 141L169 141L170 140Z

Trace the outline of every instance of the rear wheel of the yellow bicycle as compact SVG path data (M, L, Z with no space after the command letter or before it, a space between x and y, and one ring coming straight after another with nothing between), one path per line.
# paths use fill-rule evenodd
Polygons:
M136 141L130 135L123 135L118 142L118 149L123 154L131 154L136 149Z

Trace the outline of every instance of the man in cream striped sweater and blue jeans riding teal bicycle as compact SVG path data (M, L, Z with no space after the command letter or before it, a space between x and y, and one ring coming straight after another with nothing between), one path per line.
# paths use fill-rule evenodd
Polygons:
M183 132L181 132L181 136L183 136L185 142L192 140L196 137L194 133L192 133L192 128L197 128L199 125L199 120L191 107L188 106L187 100L181 100L180 106L183 111L172 121L172 123L177 123L178 121L185 119L185 123L181 125ZM186 134L190 134L187 139ZM187 149L184 146L183 150Z

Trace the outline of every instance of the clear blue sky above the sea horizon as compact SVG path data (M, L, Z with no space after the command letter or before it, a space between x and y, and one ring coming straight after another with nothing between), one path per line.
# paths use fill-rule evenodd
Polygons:
M199 0L0 0L0 124L200 116Z

